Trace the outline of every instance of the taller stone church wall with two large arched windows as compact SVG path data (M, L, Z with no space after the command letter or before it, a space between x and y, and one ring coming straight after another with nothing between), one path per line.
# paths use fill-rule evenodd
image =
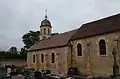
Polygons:
M112 51L114 47L114 38L119 37L120 32L104 34L100 36L94 36L85 39L75 40L74 42L74 66L78 67L82 73L89 73L91 75L112 75L113 73L113 56ZM101 56L99 53L99 41L104 39L106 42L106 55ZM90 55L88 60L87 43L90 42ZM82 44L82 56L77 56L77 44ZM120 59L120 57L119 57ZM89 68L87 67L87 63L90 62Z

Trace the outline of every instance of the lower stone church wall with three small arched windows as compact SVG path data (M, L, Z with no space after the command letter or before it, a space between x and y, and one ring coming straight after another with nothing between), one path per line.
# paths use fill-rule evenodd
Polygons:
M55 54L55 63L51 63L52 52ZM33 54L39 56L35 63L32 63ZM44 54L44 63L41 62L41 54ZM67 47L28 52L27 59L29 68L38 67L38 69L50 69L53 73L67 73Z

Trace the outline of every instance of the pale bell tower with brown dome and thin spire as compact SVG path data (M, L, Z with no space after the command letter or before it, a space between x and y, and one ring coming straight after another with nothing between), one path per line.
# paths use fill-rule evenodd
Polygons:
M51 36L51 23L47 17L47 10L45 10L45 19L41 21L40 25L40 40L46 39Z

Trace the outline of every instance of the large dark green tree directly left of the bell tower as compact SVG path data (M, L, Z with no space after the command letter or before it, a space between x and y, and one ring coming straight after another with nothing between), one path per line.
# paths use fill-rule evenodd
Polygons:
M33 44L35 44L39 40L40 31L29 31L28 33L22 36L23 43L25 44L25 48L30 48Z

